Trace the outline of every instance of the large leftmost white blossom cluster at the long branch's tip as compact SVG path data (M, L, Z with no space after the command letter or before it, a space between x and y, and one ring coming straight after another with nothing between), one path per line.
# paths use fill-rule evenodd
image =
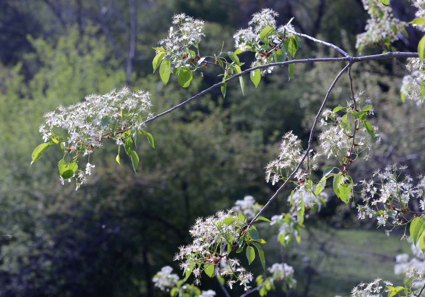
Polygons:
M131 92L127 87L113 89L108 94L92 94L83 102L59 106L55 111L45 113L45 124L39 131L45 142L56 143L65 154L75 154L74 161L77 161L78 157L90 157L96 148L102 148L102 140L107 138L112 138L119 146L124 145L130 137L130 132L125 132L133 129L139 133L144 126L143 117L152 115L149 112L151 106L147 91ZM77 189L87 183L87 176L94 167L87 163L84 171L74 171ZM60 180L63 184L62 176Z

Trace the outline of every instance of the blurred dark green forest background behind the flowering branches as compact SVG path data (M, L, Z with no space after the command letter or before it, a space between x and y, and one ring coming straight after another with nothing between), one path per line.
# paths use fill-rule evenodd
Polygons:
M13 235L0 237L0 296L162 296L152 277L165 265L178 271L173 255L190 241L187 231L197 217L230 208L246 195L266 203L275 186L265 182L264 167L287 131L306 140L342 64L297 64L290 82L280 69L257 89L247 83L245 96L231 83L225 99L213 90L148 124L155 149L147 142L137 148L137 174L129 160L122 166L114 161L114 145L96 155L90 184L77 192L59 183L57 154L29 168L31 152L42 142L42 115L61 104L129 86L150 91L159 113L221 80L213 67L203 77L195 74L188 89L173 77L164 86L152 74L152 47L167 34L173 14L205 21L201 51L209 55L218 54L223 41L225 50L234 50L232 34L265 7L280 14L278 24L295 17L298 32L353 56L356 34L368 19L360 0L0 0L0 235ZM392 0L391 7L400 20L414 19L407 1ZM395 46L416 51L422 36L407 30ZM297 58L332 57L328 51L303 40ZM249 53L240 57L252 60ZM425 120L421 107L400 100L407 72L395 60L358 64L354 87L374 101L379 112L373 124L386 137L351 176L360 180L396 161L416 175L424 165ZM344 105L348 92L343 77L329 106ZM264 216L287 211L291 190ZM386 239L375 225L358 221L355 209L331 195L326 208L309 215L300 245L281 248L276 230L264 226L266 265L285 260L295 268L294 297L348 295L378 276L401 280L392 273L394 256L409 245L397 234ZM201 288L220 292L213 280Z

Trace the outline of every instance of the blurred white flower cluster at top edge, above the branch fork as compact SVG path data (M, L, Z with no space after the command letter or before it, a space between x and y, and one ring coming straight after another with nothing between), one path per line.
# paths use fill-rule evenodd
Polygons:
M397 34L406 26L391 13L391 7L383 6L380 0L362 0L370 19L367 20L366 32L357 35L356 49L373 43L389 44L398 40Z

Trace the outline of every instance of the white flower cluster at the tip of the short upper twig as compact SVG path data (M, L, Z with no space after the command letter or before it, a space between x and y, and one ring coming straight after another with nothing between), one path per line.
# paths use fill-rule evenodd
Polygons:
M281 48L283 40L292 36L290 31L295 31L294 27L290 24L279 26L276 28L275 17L279 14L272 9L265 8L261 12L252 15L252 20L249 21L249 27L247 29L240 29L234 35L235 47L241 50L252 50L255 51L255 61L251 64L251 67L265 65L266 63L275 62L275 58L269 57L274 53L276 49ZM268 46L267 49L261 49L260 45L260 33L263 29L272 27L273 33L267 37ZM274 67L262 69L261 74L272 73Z

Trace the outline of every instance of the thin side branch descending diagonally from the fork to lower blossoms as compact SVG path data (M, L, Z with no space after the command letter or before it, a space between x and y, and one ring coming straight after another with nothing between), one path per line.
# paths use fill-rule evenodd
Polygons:
M314 119L312 129L310 131L309 145L306 149L306 152L304 153L303 158L298 163L297 168L295 168L295 170L292 171L292 173L289 175L289 177L286 179L286 181L283 183L283 185L280 186L280 188L278 188L278 190L275 192L275 194L269 199L269 201L267 201L266 205L264 205L263 208L261 208L261 210L258 212L258 214L251 220L251 222L249 224L247 224L247 226L246 226L247 229L249 228L249 226L251 226L255 222L255 220L257 220L257 218L260 216L260 214L263 213L263 211L270 205L270 203L272 203L272 201L276 198L276 196L278 196L279 192L282 191L282 189L286 186L286 184L289 183L289 180L291 180L291 178L295 175L295 173L301 167L301 164L306 159L307 154L309 154L310 148L312 147L314 129L316 128L317 121L319 120L320 114L322 113L323 108L325 107L325 104L328 101L329 95L331 94L332 89L334 88L335 84L337 83L337 81L339 80L341 75L343 75L343 73L348 69L348 67L351 67L351 65L352 65L351 63L348 63L347 66L345 66L344 69L341 70L341 72L337 75L337 77L335 77L334 82L332 83L331 87L329 88L328 92L326 93L325 99L323 99L322 106L320 106L320 109L317 112L316 118Z

